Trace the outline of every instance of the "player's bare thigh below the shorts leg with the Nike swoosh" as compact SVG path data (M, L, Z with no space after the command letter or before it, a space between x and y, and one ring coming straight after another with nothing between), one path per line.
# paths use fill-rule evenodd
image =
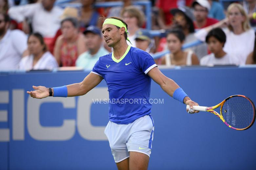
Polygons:
M130 152L129 167L131 170L146 170L149 156L140 152Z

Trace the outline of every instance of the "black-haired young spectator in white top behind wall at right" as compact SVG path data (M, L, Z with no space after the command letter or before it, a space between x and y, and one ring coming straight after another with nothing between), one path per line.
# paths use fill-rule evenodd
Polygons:
M223 50L226 42L226 35L221 28L212 29L206 36L205 42L211 54L204 56L200 60L200 65L229 65L236 62Z

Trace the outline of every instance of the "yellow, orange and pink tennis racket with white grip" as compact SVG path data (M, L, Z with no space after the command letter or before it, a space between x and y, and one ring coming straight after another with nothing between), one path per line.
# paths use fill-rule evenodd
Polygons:
M220 108L220 113L214 109ZM190 109L187 105L187 109ZM208 111L219 117L225 125L235 130L245 130L251 127L255 121L255 106L249 97L244 95L232 95L216 106L193 106L193 110Z

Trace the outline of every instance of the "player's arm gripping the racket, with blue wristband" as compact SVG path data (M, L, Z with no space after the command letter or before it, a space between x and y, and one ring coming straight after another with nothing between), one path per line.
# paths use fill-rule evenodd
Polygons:
M180 86L177 83L175 83L175 81L164 76L158 67L154 67L153 69L151 69L148 72L148 76L150 76L157 84L159 84L165 93L169 94L176 100L179 100L180 102L186 105L189 105L190 108L193 108L193 106L198 106L196 102L192 101L183 92L183 90L180 88ZM195 111L195 113L197 112L198 111Z

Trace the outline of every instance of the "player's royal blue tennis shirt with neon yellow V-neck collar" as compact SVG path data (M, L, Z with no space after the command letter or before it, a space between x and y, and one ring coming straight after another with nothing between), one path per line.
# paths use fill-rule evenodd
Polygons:
M156 66L147 52L131 46L118 60L113 52L99 58L91 73L102 76L108 85L110 121L129 124L150 115L151 78L147 73Z

